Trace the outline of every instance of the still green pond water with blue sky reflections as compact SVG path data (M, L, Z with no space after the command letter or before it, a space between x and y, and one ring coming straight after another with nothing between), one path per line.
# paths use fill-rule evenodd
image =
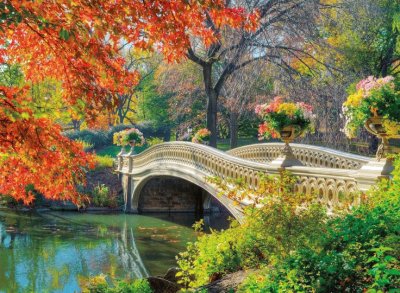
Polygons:
M226 215L205 222L227 226ZM17 213L0 209L0 292L80 292L88 276L162 275L195 239L191 214Z

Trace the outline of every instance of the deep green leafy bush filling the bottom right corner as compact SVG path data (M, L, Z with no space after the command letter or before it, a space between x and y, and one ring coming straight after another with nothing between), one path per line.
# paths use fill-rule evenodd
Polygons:
M400 288L400 160L393 180L326 223L316 248L297 249L250 276L240 292L397 292Z

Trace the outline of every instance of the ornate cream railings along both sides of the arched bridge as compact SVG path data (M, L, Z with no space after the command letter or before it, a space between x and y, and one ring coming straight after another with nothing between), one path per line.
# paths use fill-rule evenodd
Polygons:
M205 182L206 176L243 178L251 188L258 185L259 173L279 174L282 170L273 160L283 144L250 145L222 152L188 142L168 142L155 145L139 155L119 157L118 172L132 177L146 176L151 168L180 169ZM304 166L285 169L298 177L296 189L315 194L328 207L341 201L354 201L358 191L368 189L379 177L385 162L330 150L327 148L292 145L294 154Z

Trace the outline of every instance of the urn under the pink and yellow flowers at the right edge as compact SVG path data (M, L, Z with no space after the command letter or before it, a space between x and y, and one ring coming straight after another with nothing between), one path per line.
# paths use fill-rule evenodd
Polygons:
M386 158L388 154L391 153L396 153L396 149L390 146L389 144L389 139L391 138L400 138L400 135L393 135L387 133L385 127L383 126L385 121L385 118L376 116L376 117L371 117L368 118L367 121L365 121L365 129L381 139L381 144L378 147L378 150L376 152L376 158L379 161L382 158ZM400 128L400 124L399 124Z

